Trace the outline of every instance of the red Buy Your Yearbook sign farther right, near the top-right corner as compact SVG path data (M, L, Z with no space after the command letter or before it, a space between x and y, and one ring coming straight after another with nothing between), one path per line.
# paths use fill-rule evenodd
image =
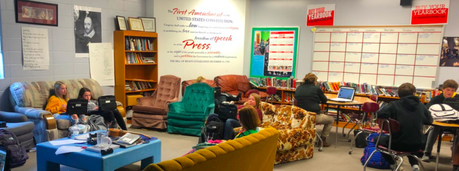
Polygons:
M447 24L449 0L413 1L411 24Z

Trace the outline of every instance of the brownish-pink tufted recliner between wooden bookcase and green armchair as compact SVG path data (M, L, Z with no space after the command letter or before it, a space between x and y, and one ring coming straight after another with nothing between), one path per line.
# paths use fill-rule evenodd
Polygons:
M169 103L179 101L180 77L161 76L158 88L152 96L138 98L132 110L132 125L166 129Z

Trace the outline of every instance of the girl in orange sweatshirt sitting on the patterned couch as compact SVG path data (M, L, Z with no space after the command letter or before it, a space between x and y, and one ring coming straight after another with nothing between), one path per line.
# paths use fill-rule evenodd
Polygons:
M58 119L70 120L71 124L77 124L80 120L86 122L85 115L77 116L66 113L67 111L67 86L61 81L54 84L54 95L49 97L45 110L53 113L53 117ZM69 117L71 116L71 117Z

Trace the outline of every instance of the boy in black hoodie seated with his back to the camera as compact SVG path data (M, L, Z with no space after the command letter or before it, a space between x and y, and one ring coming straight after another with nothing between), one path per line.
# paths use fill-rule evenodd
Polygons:
M392 150L395 151L418 151L422 149L422 127L431 125L433 120L427 108L418 97L414 96L416 88L411 83L403 83L398 88L400 100L393 101L382 107L377 112L378 118L391 118L400 123L400 130L392 133ZM381 137L379 144L389 147L389 136ZM390 155L381 154L386 161L395 169L395 162ZM422 155L422 154L418 154ZM419 163L414 158L408 157L413 170L419 170Z

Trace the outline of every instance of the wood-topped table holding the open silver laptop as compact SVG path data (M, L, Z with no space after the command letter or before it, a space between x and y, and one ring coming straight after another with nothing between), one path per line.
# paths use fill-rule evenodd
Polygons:
M336 145L338 144L338 124L340 122L340 110L342 106L359 106L359 112L362 112L362 105L366 102L373 102L376 103L375 101L366 98L366 97L358 97L354 96L354 101L353 102L336 102L336 101L331 101L330 99L336 98L338 95L337 94L328 94L325 93L325 96L327 97L327 102L326 102L326 110L328 113L328 106L329 105L335 105L336 106L336 134L335 134L335 148ZM335 107L333 107L335 108Z

